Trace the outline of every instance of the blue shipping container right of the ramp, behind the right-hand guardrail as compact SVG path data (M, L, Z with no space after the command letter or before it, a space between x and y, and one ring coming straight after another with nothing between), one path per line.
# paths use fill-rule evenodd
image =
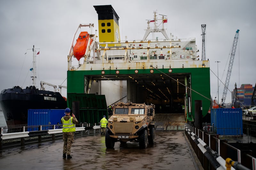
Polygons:
M211 109L211 124L218 135L243 135L243 120L241 108Z

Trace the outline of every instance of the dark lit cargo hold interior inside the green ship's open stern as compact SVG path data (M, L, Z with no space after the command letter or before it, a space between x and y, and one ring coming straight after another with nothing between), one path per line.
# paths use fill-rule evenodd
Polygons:
M183 113L185 105L185 78L190 80L190 74L132 74L95 76L93 80L126 81L127 92L124 102L154 104L156 113ZM188 93L189 89L188 89ZM115 94L113 94L115 95Z

